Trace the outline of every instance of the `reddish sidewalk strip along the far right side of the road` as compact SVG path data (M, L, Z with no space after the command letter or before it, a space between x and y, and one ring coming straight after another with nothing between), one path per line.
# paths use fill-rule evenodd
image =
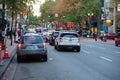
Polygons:
M82 42L99 42L99 43L103 43L103 44L111 44L111 45L114 45L115 44L115 40L110 40L110 39L107 39L106 42L104 41L101 41L99 38L97 38L97 41L95 41L95 39L93 38L86 38L86 37L80 37L81 41Z

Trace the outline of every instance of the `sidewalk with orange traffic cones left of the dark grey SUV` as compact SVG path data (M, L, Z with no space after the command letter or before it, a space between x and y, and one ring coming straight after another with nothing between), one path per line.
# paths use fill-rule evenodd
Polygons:
M16 49L16 43L13 42L13 45L10 44L10 39L7 39L6 46L8 50L9 57L8 59L2 59L2 65L0 65L0 79L2 78L4 72L8 68L10 62L12 61L14 55L15 55L15 49ZM4 50L2 51L2 58L4 57Z

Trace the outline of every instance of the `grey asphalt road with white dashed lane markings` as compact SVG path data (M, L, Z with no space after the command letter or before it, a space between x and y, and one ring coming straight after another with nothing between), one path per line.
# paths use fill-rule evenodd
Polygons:
M4 80L120 80L120 47L81 42L81 52L47 48L48 62L17 63L15 57Z

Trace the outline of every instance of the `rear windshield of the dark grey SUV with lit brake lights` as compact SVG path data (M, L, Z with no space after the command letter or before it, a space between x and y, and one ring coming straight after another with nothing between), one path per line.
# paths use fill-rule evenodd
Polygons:
M43 43L43 39L40 36L25 36L24 44L40 44Z

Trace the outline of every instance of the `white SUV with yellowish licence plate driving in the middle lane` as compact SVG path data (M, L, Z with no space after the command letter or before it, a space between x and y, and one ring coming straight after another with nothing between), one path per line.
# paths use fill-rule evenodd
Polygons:
M55 49L72 49L80 52L80 38L77 32L61 31L55 40Z

